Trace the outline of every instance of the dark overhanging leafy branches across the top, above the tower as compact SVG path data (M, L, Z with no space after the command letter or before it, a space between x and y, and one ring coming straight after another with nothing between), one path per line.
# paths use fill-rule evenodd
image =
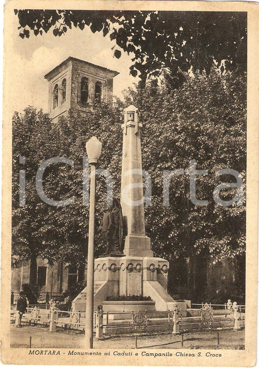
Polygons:
M20 37L52 30L62 36L68 28L89 27L115 40L132 57L130 74L146 81L168 69L207 74L214 63L227 70L246 70L247 19L245 12L15 10ZM132 53L132 54L131 54Z

